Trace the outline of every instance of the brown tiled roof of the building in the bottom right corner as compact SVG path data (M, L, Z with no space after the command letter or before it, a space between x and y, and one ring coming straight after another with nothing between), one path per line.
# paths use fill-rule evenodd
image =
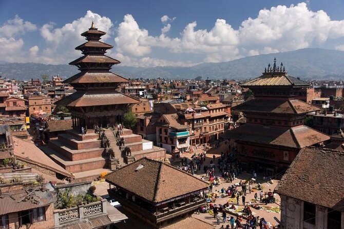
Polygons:
M344 211L344 154L331 149L300 150L277 185L280 195Z

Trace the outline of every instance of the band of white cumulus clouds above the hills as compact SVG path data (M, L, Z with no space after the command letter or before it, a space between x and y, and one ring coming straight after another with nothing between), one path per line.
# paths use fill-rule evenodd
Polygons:
M108 54L119 59L124 65L188 66L193 63L180 61L186 59L183 54L195 56L194 59L190 58L195 62L223 62L248 55L319 45L327 47L331 40L344 37L344 20L331 20L322 10L310 10L307 3L262 9L256 17L244 20L238 29L234 29L229 22L221 18L209 29L199 28L197 22L190 22L176 37L169 35L173 24L171 22L175 17L163 15L160 20L161 33L151 35L139 25L133 15L126 14L116 28L115 48L109 50ZM85 42L80 33L90 27L91 21L94 21L100 30L107 32L102 41L109 40L114 34L110 18L87 11L85 16L61 28L55 28L53 23L43 25L40 33L46 46L40 45L39 48L33 45L26 51L27 56L44 63L67 63L77 58L81 53L74 50L74 47ZM24 41L16 36L36 29L32 23L16 16L0 30L0 45L14 52L20 51ZM344 45L334 48L344 50ZM178 54L180 58L176 58ZM175 61L170 61L173 58L169 55L173 55Z

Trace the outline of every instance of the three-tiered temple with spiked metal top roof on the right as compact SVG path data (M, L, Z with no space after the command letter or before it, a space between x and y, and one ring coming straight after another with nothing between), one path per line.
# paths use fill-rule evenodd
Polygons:
M270 64L262 75L245 82L254 98L235 106L242 111L246 124L229 132L235 140L243 169L276 175L289 167L299 150L305 146L320 146L330 137L303 125L307 113L320 108L295 99L307 82L288 75L283 63Z

